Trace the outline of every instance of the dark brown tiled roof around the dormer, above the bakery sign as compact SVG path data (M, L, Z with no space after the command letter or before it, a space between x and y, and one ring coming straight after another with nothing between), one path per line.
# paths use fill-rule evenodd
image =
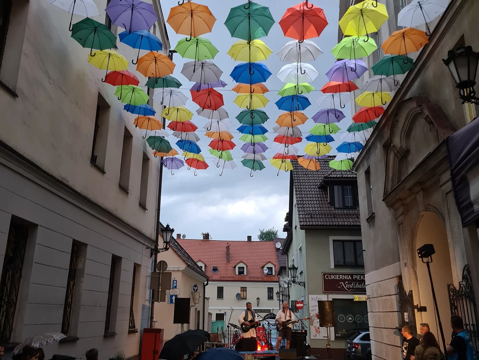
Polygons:
M331 169L329 162L332 159L334 157L319 159L319 171L305 169L297 160L291 162L300 226L360 226L359 208L334 209L328 201L327 187L321 186L326 179L356 180L356 173L352 170Z

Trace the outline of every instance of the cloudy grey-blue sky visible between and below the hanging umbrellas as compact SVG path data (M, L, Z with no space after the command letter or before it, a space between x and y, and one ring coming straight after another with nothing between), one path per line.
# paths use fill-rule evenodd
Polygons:
M240 109L233 103L236 93L228 91L236 83L229 77L231 70L240 62L232 60L227 51L229 47L239 39L232 38L224 22L228 16L230 7L238 6L245 1L242 0L197 0L209 6L211 12L216 17L217 21L213 27L213 31L209 34L201 35L211 40L213 45L217 47L219 53L213 60L217 66L223 70L221 80L228 83L225 91L221 93L225 100L225 109L228 111L231 122L236 127L239 127L238 121L235 117L243 109ZM273 54L267 61L263 61L273 75L265 83L270 93L266 93L266 97L270 103L265 110L270 119L264 124L269 130L276 125L274 122L279 114L282 112L277 109L274 102L279 99L277 91L281 89L283 84L276 77L277 72L284 66L285 62L281 62L276 53L285 45L286 42L293 40L285 38L278 21L283 16L286 8L296 5L298 0L257 0L256 2L270 6L271 13L275 20L275 24L271 28L267 37L261 38L264 43L273 50ZM319 72L319 76L312 83L318 90L309 93L307 96L311 102L304 112L306 115L313 116L319 108L314 104L316 99L322 94L319 89L328 81L324 75L333 65L334 57L331 54L331 49L337 44L338 34L338 1L324 1L313 0L313 4L318 5L324 9L329 25L323 31L319 38L310 39L315 41L323 54L311 63ZM274 6L272 7L272 4ZM165 21L168 18L170 8L177 5L176 0L161 1L163 15ZM171 42L171 48L176 46L176 43L184 35L177 35L171 29L170 25L166 25L168 35ZM203 126L207 119L201 116L196 116L195 110L198 105L191 101L189 89L193 85L182 74L182 65L190 59L182 59L178 54L174 55L174 63L176 69L173 73L178 80L183 84L183 93L187 94L190 101L186 104L195 116L193 122L198 126L197 134L200 137L198 145L202 149L202 154L210 167L206 170L198 171L198 175L194 176L194 169L187 170L186 166L174 172L174 175L164 169L163 176L163 190L161 203L161 222L163 224L169 223L175 229L175 233L182 233L186 235L187 239L200 239L202 232L209 232L211 237L215 240L246 240L247 235L252 235L253 240L259 233L259 229L267 229L275 227L279 231L279 236L284 237L282 232L286 211L288 208L288 191L289 191L289 173L280 172L277 176L277 169L274 168L269 160L264 161L266 168L264 170L256 171L253 177L250 177L250 169L243 167L241 164L240 150L242 141L239 140L239 133L231 131L235 139L233 141L237 147L231 151L235 157L235 163L238 165L233 170L225 170L222 176L219 176L221 169L213 165L214 158L208 152L208 143L210 139L205 137ZM220 89L217 89L220 90ZM276 91L274 91L276 90ZM345 120L342 121L340 127L345 129L350 123L349 106L346 106ZM348 120L349 118L349 120ZM314 123L309 119L306 124L300 126L304 136L307 135L308 130L314 126ZM202 132L200 130L203 130ZM344 130L343 130L344 131ZM266 136L269 138L266 144L271 147L274 135L268 132ZM171 144L176 142L176 138L172 136L169 138ZM296 146L302 152L307 141ZM175 146L174 146L175 147ZM334 146L333 146L334 148ZM178 149L177 149L178 150ZM180 151L181 154L181 151ZM269 150L266 156L271 158L274 151Z

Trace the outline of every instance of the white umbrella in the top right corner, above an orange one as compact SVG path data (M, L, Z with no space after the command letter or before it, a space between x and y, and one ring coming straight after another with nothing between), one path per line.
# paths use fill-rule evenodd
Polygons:
M449 0L412 0L398 14L398 25L414 27L422 24L427 26L427 35L431 35L427 23L432 22L437 16L442 14Z

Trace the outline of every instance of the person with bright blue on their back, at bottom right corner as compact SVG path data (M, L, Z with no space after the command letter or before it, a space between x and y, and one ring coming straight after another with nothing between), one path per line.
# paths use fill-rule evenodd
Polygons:
M476 349L472 344L471 337L464 329L462 318L457 315L451 316L451 327L456 334L451 342L446 345L449 360L478 360Z

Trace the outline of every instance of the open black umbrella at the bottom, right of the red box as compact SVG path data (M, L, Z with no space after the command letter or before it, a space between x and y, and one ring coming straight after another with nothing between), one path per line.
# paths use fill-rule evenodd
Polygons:
M208 341L208 333L205 330L187 330L165 342L159 359L177 360L183 355L191 354L206 341Z

